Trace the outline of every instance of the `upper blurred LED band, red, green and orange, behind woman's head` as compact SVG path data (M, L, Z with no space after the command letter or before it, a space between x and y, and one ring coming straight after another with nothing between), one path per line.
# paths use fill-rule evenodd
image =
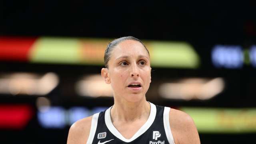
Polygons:
M110 41L97 38L0 38L0 60L103 66L104 51ZM187 42L145 40L145 45L150 51L153 67L198 68L200 65L198 54Z

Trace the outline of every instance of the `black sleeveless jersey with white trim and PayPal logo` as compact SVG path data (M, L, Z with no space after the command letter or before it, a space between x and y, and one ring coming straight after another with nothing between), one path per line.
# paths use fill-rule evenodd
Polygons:
M124 138L112 124L111 108L93 115L86 144L174 144L169 123L170 108L150 103L148 120L130 139Z

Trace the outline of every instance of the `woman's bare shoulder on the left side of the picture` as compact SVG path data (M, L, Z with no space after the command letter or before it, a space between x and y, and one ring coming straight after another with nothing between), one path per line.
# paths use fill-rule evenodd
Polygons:
M92 116L76 121L69 129L67 144L85 144L90 134Z

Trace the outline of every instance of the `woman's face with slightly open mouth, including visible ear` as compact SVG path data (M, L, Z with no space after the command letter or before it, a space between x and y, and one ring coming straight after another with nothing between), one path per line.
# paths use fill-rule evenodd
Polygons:
M150 57L144 46L124 40L112 50L108 69L102 69L102 76L111 84L115 99L136 102L148 91L150 72Z

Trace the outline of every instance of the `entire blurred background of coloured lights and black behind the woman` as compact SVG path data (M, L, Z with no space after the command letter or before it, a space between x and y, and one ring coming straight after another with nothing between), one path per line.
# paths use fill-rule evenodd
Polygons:
M134 36L150 51L148 101L183 110L202 144L256 136L255 0L0 1L3 144L66 143L78 119L113 104L104 49Z

